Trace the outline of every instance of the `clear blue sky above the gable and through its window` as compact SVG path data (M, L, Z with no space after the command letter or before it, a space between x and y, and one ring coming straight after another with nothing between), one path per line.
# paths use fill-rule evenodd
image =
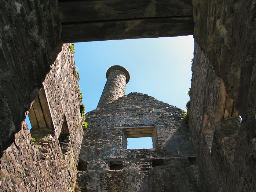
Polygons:
M75 64L85 110L96 109L110 66L126 67L126 94L140 92L186 110L191 85L193 36L75 43ZM28 122L28 119L26 119ZM132 138L128 148L152 148L151 137Z

